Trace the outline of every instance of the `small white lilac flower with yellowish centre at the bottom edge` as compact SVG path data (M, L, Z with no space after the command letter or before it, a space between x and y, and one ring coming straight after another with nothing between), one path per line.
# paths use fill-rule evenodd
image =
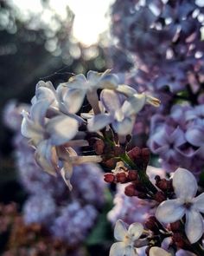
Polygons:
M132 223L127 229L123 220L117 220L114 237L118 242L112 245L109 256L137 256L135 242L142 233L143 225L141 223Z

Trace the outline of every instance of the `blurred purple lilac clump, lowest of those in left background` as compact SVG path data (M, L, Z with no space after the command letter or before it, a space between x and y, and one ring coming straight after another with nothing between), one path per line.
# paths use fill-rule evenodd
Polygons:
M97 210L92 205L82 207L75 200L67 207L61 208L61 213L50 227L51 232L54 237L67 241L70 246L75 246L85 240L97 214Z

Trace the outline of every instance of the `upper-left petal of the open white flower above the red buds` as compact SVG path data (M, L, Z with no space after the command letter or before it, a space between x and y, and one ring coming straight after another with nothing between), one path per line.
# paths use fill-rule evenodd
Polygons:
M119 95L111 89L104 89L101 92L100 101L105 107L105 110L107 110L112 115L115 113L115 111L121 108Z

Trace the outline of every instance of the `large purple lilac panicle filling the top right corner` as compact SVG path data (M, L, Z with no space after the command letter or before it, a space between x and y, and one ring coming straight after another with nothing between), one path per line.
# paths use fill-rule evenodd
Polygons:
M126 56L131 53L131 62L137 63L133 80L154 92L168 87L175 94L189 84L197 93L203 82L202 15L195 1L113 3L112 35L118 48Z

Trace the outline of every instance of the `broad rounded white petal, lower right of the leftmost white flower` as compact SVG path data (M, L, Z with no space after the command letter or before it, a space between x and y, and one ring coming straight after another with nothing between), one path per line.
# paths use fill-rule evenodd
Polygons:
M78 121L66 115L56 116L46 125L53 145L62 145L73 139L79 128Z

